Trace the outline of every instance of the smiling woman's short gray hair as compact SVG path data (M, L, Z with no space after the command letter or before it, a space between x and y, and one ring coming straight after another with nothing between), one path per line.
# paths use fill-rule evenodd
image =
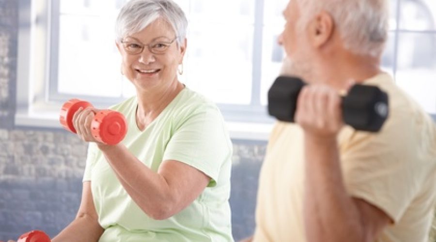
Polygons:
M177 36L177 43L181 45L186 39L187 19L183 10L172 0L128 1L121 9L115 24L117 41L145 29L159 17L171 25Z

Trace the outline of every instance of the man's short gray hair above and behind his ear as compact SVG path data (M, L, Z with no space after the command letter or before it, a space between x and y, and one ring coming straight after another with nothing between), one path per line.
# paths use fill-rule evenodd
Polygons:
M297 0L300 13L312 17L327 11L340 31L345 48L353 53L380 56L388 39L387 0ZM306 25L309 19L302 19Z

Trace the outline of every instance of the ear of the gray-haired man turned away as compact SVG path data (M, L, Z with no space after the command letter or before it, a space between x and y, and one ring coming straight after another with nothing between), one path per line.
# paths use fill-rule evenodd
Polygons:
M316 15L309 25L309 35L314 47L326 45L335 29L333 17L323 11Z

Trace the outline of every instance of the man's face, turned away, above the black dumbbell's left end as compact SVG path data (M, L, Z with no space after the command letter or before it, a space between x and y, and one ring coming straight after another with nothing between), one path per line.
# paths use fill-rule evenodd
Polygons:
M311 72L310 45L305 28L298 24L302 16L296 0L289 1L283 11L283 17L286 24L279 37L279 44L286 52L286 60L283 61L281 72L285 75L305 78Z

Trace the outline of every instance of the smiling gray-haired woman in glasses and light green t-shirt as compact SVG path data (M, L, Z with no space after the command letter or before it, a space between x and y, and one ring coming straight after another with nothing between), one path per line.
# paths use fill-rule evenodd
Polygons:
M91 135L95 109L79 109L90 142L76 219L53 242L233 241L232 145L213 103L177 79L187 19L171 0L131 0L116 24L122 73L136 96L113 106L128 132L117 145Z

